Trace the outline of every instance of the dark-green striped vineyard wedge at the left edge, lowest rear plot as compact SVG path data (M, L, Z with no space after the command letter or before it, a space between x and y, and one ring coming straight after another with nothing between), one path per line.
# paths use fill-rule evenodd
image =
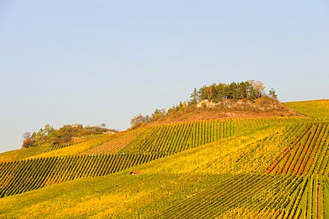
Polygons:
M125 170L163 157L161 154L46 157L0 164L0 198L46 185Z

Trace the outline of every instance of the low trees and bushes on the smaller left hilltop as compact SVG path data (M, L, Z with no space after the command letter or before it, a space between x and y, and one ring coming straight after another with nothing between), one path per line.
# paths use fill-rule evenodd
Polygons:
M100 126L83 127L82 125L64 125L60 129L54 129L51 125L45 125L45 128L38 132L25 132L23 135L23 148L31 146L51 146L58 144L69 144L73 138L97 135L106 131L117 131L107 129L106 124Z

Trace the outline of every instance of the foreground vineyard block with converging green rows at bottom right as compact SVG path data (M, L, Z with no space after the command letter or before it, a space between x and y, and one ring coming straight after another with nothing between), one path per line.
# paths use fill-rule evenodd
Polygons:
M327 181L318 177L234 175L213 183L173 207L154 209L149 217L324 218L328 213L322 189Z

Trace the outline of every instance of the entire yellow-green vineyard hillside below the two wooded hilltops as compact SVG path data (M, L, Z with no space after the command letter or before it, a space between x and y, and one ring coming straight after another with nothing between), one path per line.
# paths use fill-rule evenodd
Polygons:
M329 218L326 101L297 103L1 154L0 217Z

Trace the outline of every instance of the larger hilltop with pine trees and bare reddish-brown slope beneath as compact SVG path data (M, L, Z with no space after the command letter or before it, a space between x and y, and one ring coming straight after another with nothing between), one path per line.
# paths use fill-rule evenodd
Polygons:
M194 88L190 97L167 111L156 109L151 116L134 116L131 128L204 119L302 116L280 103L273 88L266 94L261 81L212 83L199 90Z

